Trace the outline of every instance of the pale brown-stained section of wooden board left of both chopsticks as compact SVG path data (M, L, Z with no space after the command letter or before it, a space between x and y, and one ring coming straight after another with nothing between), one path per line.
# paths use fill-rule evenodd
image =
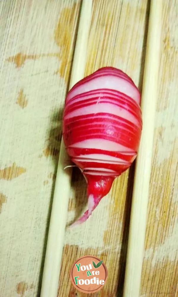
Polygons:
M0 1L0 296L37 296L80 1Z

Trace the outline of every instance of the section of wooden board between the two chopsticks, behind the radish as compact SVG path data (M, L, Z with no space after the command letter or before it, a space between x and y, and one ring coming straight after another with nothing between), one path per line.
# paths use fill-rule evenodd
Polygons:
M147 1L93 1L86 74L103 66L128 73L139 85L142 66ZM71 264L82 255L93 254L107 265L108 280L101 292L92 296L116 296L123 290L128 224L133 185L132 167L115 180L91 218L66 231L58 296L84 296L69 282ZM73 170L68 223L84 212L86 183Z

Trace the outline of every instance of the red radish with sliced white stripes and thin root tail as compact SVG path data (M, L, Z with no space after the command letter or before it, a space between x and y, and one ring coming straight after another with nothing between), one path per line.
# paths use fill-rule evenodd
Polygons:
M83 223L114 179L136 158L141 132L140 92L114 67L83 78L66 96L63 140L71 160L87 182L88 210L71 226Z

